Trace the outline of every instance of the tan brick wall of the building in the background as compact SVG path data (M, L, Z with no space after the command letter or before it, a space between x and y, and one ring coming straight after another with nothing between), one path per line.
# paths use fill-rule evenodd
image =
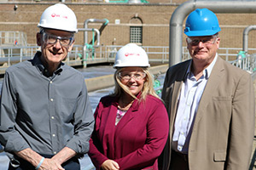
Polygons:
M156 0L155 0L156 1ZM14 10L14 5L18 9ZM35 44L37 24L44 9L53 3L1 3L0 31L24 31L27 42ZM143 46L168 46L169 23L177 4L111 4L111 3L67 3L78 18L78 27L84 27L87 19L108 19L108 26L102 31L101 43L104 45L124 45L130 41L131 19L142 20ZM222 28L220 46L223 48L242 48L243 30L256 23L256 14L217 14ZM119 20L119 24L115 24ZM90 23L89 27L100 28L101 24ZM91 33L88 33L89 40ZM185 38L185 36L183 36ZM249 32L248 48L256 48L256 31ZM76 34L76 43L83 44L83 32ZM183 41L183 46L185 42Z

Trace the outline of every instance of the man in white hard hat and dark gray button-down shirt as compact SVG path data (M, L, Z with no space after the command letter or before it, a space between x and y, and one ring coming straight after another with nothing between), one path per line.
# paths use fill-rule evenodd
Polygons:
M0 103L0 141L9 169L79 170L94 127L84 76L61 61L74 43L77 20L58 3L38 24L41 52L9 67Z

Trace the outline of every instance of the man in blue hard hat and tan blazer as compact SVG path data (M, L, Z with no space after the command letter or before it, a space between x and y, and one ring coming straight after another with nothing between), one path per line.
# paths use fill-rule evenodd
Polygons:
M247 71L218 56L217 16L189 14L184 33L192 59L166 72L162 99L170 137L161 170L246 170L253 149L253 83Z

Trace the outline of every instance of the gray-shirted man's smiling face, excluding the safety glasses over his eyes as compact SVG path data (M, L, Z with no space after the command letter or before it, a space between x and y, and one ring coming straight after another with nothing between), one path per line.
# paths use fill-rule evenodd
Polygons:
M53 37L73 37L72 32L45 29L45 35L52 35ZM72 50L73 43L68 46L61 45L59 39L55 43L49 43L45 40L44 33L37 34L38 45L41 46L42 61L50 68L55 68L60 65L61 61L67 57L67 53Z

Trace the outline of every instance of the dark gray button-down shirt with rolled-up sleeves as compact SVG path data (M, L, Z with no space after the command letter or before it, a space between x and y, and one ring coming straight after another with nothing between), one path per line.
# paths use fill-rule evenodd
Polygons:
M9 67L3 79L0 142L9 153L32 148L55 155L67 146L79 154L89 150L94 126L84 76L61 64L52 77L37 53Z

